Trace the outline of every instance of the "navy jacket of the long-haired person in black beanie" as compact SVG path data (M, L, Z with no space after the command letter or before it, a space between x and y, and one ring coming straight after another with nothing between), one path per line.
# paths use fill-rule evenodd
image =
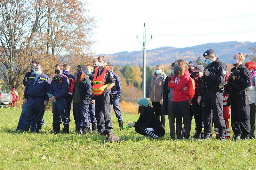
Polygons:
M73 95L75 94L76 84L74 87ZM89 77L85 77L81 83L79 84L79 91L80 91L80 99L83 100L84 104L91 103L91 95L92 95L92 83Z

